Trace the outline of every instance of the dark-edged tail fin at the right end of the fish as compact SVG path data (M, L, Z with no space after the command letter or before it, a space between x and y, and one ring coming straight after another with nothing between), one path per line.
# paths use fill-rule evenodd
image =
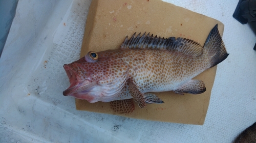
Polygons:
M209 68L224 61L228 53L218 30L218 24L210 31L203 48L203 54L209 58Z

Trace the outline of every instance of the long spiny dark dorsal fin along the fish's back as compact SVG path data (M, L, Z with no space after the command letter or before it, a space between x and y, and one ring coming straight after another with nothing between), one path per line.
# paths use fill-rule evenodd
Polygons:
M170 51L179 51L184 54L199 56L202 54L203 46L193 40L186 38L161 38L157 36L150 36L150 33L146 35L144 33L142 36L136 33L131 37L131 39L124 39L121 49L133 49L133 48L151 48L151 49L166 49Z

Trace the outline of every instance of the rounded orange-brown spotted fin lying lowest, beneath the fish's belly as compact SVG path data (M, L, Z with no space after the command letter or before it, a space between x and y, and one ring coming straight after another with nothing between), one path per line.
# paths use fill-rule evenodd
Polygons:
M115 100L110 102L110 107L117 113L132 113L135 109L133 99Z

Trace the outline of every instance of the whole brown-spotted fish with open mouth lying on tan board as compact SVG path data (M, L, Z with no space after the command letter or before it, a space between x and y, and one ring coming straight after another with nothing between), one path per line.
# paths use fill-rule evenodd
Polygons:
M63 95L90 103L110 102L115 112L128 114L135 109L134 101L140 108L164 103L157 92L205 92L205 83L193 78L227 56L218 24L204 46L186 38L135 33L130 39L126 36L119 49L90 51L63 65L70 81Z

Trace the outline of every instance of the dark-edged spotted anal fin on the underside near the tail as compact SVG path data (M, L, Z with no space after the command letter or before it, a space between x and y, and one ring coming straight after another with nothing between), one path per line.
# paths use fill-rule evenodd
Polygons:
M187 83L181 85L174 92L177 94L190 93L190 94L201 94L206 91L205 83L198 79L191 79Z

